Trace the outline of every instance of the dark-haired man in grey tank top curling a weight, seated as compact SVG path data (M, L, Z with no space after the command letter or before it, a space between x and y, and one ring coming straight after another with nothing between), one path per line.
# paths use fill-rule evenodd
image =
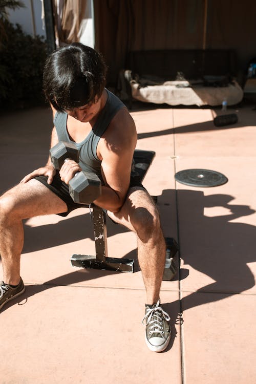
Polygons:
M105 75L102 57L78 43L54 51L46 61L44 92L54 118L51 147L59 141L75 143L79 163L68 160L56 171L49 158L44 167L25 176L0 199L4 272L0 309L25 290L20 278L22 220L49 214L67 216L81 206L69 195L69 181L80 170L94 172L101 179L102 194L93 203L105 209L113 221L137 234L147 302L145 339L148 348L160 352L170 339L169 316L160 307L159 298L165 241L154 202L133 180L135 123L125 105L104 88Z

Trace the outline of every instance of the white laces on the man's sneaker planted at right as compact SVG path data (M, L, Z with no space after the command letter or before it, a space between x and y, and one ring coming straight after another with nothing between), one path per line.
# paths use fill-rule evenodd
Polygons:
M157 304L150 309L147 309L145 316L143 317L142 324L145 326L150 325L150 334L160 333L161 335L164 333L163 331L163 318L168 322L170 320L170 316L166 313L163 308L159 307L160 300L158 300Z

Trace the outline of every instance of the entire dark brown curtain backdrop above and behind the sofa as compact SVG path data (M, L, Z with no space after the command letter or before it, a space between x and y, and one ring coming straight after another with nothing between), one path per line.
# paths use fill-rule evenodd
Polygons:
M94 14L112 84L132 50L235 49L241 71L256 56L255 0L94 0Z

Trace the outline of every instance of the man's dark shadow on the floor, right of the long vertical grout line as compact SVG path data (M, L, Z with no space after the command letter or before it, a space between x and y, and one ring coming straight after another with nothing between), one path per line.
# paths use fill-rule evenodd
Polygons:
M163 195L167 195L164 200L168 199L169 193L163 191ZM255 261L255 226L233 222L255 211L247 205L231 204L233 199L230 195L204 196L201 191L177 190L180 258L185 265L214 280L205 286L200 281L193 281L198 289L182 298L181 312L244 292L255 285L254 276L247 266L247 263ZM213 207L223 207L229 212L206 216L204 208ZM189 276L187 279L189 283ZM202 292L218 294L200 294ZM168 307L170 303L166 304L167 310ZM173 315L179 317L179 313Z

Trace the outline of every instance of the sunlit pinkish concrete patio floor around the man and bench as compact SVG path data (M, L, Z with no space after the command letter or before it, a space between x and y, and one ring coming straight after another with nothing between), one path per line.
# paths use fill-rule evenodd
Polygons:
M180 245L179 275L161 289L169 347L158 354L145 345L138 265L133 274L71 267L73 253L95 254L87 208L36 217L24 222L27 289L1 312L1 384L254 382L256 111L243 105L238 123L217 128L219 109L140 107L131 112L137 148L156 151L144 185L158 196L164 235ZM2 114L0 129L3 192L46 162L51 112ZM188 168L217 170L228 182L175 182ZM108 248L137 258L135 235L110 220Z

